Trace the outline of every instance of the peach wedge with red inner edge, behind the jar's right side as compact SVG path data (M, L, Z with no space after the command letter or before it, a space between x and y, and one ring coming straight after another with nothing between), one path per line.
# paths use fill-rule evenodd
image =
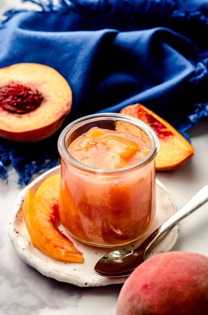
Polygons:
M160 141L159 152L156 156L156 170L178 169L194 154L191 144L175 128L145 106L129 105L120 113L139 118L155 130Z

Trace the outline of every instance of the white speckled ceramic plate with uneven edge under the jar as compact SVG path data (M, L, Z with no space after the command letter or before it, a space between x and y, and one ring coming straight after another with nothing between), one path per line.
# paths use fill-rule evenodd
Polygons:
M14 203L11 219L8 225L8 235L11 243L13 244L18 255L30 266L36 268L44 276L54 278L58 281L67 282L70 284L78 285L81 287L87 286L103 286L108 284L120 284L124 283L126 278L105 278L97 275L94 272L94 266L96 262L107 252L118 248L101 248L86 245L74 239L68 234L68 232L59 226L73 242L74 246L83 252L84 263L64 263L56 261L39 249L35 248L31 243L30 236L27 232L25 221L23 217L23 200L25 198L26 191L30 188L34 193L37 191L41 183L48 177L60 172L60 166L50 169L46 173L39 176L30 185L20 192L16 202ZM161 184L160 181L156 181L156 217L151 226L151 229L140 240L125 245L125 249L133 249L139 246L145 238L147 238L158 226L165 222L177 211L174 201L172 200L167 189ZM169 231L164 233L155 244L152 245L146 258L150 258L154 255L162 252L167 252L172 249L178 239L178 225L172 227Z

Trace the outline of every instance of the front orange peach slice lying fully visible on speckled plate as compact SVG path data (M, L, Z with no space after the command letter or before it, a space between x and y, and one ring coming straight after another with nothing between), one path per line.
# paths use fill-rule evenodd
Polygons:
M33 245L43 253L58 261L83 262L82 253L58 230L50 213L31 190L25 196L24 218Z

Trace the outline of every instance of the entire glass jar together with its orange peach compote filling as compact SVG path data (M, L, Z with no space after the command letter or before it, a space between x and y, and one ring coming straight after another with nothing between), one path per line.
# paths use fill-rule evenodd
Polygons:
M146 123L96 114L68 125L61 154L59 217L75 238L118 246L140 238L155 216L158 139Z

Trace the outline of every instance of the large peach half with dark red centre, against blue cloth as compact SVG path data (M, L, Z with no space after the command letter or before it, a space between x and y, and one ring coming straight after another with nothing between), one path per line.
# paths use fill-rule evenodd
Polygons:
M55 69L19 63L0 69L0 136L37 142L59 129L72 106L72 92Z

